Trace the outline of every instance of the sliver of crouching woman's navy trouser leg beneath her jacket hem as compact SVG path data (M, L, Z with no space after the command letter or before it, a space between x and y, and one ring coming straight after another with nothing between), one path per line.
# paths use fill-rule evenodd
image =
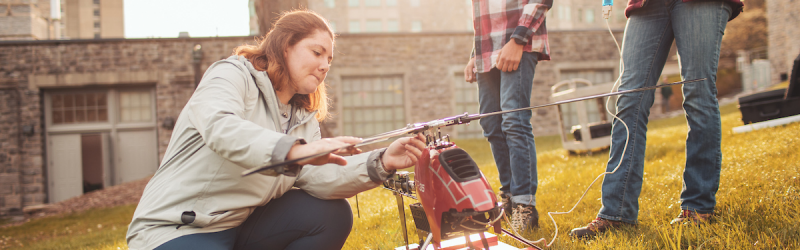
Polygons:
M156 247L156 250L231 250L236 228L216 232L184 235Z

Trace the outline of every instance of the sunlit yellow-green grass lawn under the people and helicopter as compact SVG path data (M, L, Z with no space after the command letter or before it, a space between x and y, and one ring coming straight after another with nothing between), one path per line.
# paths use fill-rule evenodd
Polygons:
M554 215L558 238L552 249L798 249L800 248L800 123L733 134L742 125L736 104L722 108L722 178L717 193L717 219L701 226L669 226L680 211L685 161L686 121L683 116L652 121L647 133L645 181L639 198L639 225L589 240L567 236L591 221L600 208L600 183L589 190L574 212ZM553 239L547 212L568 211L589 183L605 170L607 152L570 155L558 137L537 137L541 228L525 236ZM500 186L485 140L456 140L471 154L492 187ZM405 198L405 203L415 202ZM393 249L403 244L397 204L381 188L358 195L356 217L345 249ZM354 216L355 198L349 199ZM0 249L126 249L125 231L134 206L91 210L44 218L0 229ZM409 239L417 241L405 209ZM522 247L501 236L501 241Z

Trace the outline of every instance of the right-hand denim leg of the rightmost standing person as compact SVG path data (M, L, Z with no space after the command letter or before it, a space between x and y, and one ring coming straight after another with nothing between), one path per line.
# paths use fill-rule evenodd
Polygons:
M689 124L681 209L712 213L722 162L721 125L717 102L717 63L731 8L722 1L681 2L672 12L672 26L684 79L706 78L683 86L683 109Z

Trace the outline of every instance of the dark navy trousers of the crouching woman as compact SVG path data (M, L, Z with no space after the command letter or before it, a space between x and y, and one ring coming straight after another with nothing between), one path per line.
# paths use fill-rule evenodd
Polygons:
M346 200L320 200L293 189L256 208L238 227L181 236L156 249L341 249L352 227Z

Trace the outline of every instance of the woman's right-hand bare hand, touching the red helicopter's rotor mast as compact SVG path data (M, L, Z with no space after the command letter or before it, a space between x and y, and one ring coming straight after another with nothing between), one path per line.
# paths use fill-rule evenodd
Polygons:
M411 167L417 163L425 148L425 136L422 134L397 139L383 153L383 169L388 172Z

